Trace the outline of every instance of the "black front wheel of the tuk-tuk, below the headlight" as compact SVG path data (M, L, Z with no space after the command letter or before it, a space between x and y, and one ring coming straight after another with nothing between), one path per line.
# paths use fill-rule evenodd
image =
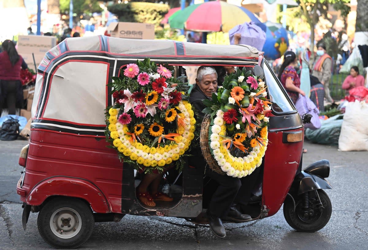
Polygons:
M318 198L315 191L309 192L309 208L304 208L304 196L299 196L296 200L294 211L294 203L290 198L284 201L284 217L287 224L298 232L316 232L322 229L330 220L332 205L330 198L322 189L318 190L319 199L323 208L318 205Z

